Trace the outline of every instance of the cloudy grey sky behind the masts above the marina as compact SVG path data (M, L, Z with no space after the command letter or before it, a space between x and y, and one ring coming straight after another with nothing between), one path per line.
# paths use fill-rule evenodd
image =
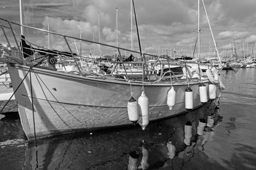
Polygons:
M25 25L47 29L48 16L50 30L53 32L79 37L82 31L84 39L94 38L95 41L99 41L100 29L100 41L110 45L115 45L116 8L118 8L118 46L131 48L130 0L22 1ZM144 52L193 50L198 27L197 0L134 0L134 3L141 48ZM220 50L230 46L233 38L236 48L241 48L241 42L244 48L252 49L255 46L255 0L204 0L204 3ZM0 8L1 18L19 23L18 0L1 0ZM132 29L134 49L139 50L134 17ZM214 44L202 1L200 1L200 29L202 52L213 51ZM18 28L15 32L20 33ZM24 32L29 41L47 46L47 34L28 30ZM0 43L3 43L3 32L0 32L0 38ZM58 40L60 38L51 37L52 48L62 50L64 42ZM83 51L87 50L92 50L92 47L84 43Z

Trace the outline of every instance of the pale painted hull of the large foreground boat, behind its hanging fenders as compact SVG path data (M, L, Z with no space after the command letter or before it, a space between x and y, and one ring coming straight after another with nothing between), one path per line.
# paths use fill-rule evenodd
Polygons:
M8 64L8 69L13 89L16 90L29 67ZM207 88L208 83L209 81L204 81ZM198 108L202 106L199 96L200 82L190 82L189 85L193 90L193 107ZM30 140L35 139L35 134L36 138L43 138L69 132L132 125L127 115L131 87L134 99L138 99L141 83L86 78L35 67L20 85L15 99L19 104L22 128ZM172 110L166 104L170 87L170 83L144 85L149 99L150 121L187 111L184 101L188 85L173 84L177 97Z

